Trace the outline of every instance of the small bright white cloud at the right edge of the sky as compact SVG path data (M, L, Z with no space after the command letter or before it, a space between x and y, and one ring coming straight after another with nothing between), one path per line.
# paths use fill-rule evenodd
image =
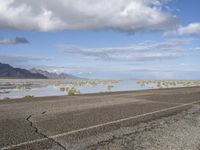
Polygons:
M187 26L181 26L177 30L168 31L165 33L166 36L191 36L200 35L200 23L191 23Z

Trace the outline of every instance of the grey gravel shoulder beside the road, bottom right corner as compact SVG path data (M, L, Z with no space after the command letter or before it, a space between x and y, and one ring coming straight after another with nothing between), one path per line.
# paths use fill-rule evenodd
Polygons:
M107 133L107 139L85 149L199 150L200 106L159 120Z

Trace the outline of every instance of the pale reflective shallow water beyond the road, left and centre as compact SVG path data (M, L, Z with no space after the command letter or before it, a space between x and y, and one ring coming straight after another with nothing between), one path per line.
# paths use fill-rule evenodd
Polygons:
M108 89L109 85L112 85L113 87ZM17 89L18 86L26 88ZM0 99L21 98L27 95L29 96L31 95L34 97L68 95L68 92L66 90L67 87L68 88L75 87L75 89L79 90L80 93L82 94L147 89L147 87L141 87L140 85L138 85L135 80L118 81L117 83L112 83L112 84L110 84L109 82L106 84L87 83L85 85L76 85L72 83L62 83L60 85L56 85L51 83L44 84L44 82L41 82L41 84L39 85L38 83L30 84L24 81L14 82L13 84L10 84L8 82L0 82L0 87L1 87ZM61 88L64 89L61 90Z

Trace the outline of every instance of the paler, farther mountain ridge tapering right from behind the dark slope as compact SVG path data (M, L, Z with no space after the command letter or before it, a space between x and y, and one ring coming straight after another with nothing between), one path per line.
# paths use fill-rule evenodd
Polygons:
M41 69L36 69L36 68L33 68L30 71L32 73L42 74L42 75L46 76L48 79L79 79L78 77L75 77L75 76L72 76L72 75L69 75L66 73L57 74L57 73L44 71Z

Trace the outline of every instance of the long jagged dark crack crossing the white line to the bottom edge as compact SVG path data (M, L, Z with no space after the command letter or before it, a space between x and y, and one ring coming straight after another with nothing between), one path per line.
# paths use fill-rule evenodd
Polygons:
M33 125L33 122L31 121L31 117L32 117L32 116L33 116L33 115L29 115L29 116L26 118L26 121L28 121L28 122L30 123L30 126L31 126L32 128L35 129L35 133L37 133L37 134L43 136L43 137L46 138L47 140L50 140L50 141L54 142L55 144L57 144L58 146L60 146L62 149L67 150L61 143L59 143L59 142L56 141L55 139L50 138L49 136L47 136L47 135L45 135L45 134L39 132L38 128L37 128L36 126L34 126L34 125Z

